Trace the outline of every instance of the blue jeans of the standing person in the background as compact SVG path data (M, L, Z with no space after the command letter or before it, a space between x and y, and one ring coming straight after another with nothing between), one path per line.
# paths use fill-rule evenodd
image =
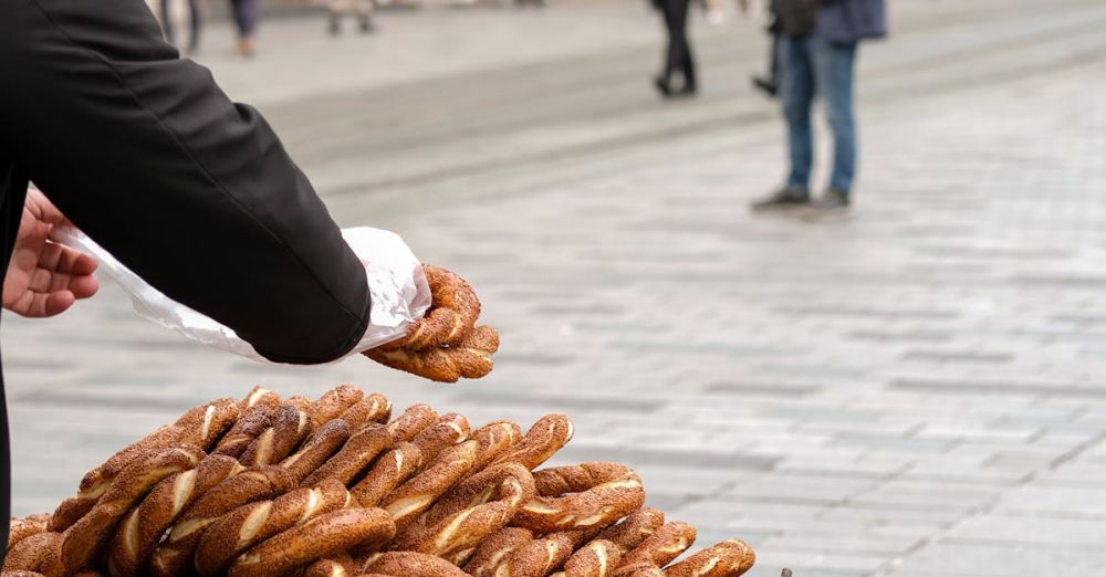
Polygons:
M814 162L811 106L815 94L825 101L833 130L833 175L830 187L848 193L856 174L856 124L853 118L853 63L856 43L827 42L816 35L782 36L779 43L780 94L787 119L791 171L787 186L810 188Z

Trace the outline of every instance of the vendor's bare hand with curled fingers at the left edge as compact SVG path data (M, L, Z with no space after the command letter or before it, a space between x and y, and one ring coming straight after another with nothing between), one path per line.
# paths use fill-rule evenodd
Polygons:
M15 246L3 280L3 307L27 317L61 314L76 302L96 294L92 272L96 262L87 254L51 242L54 227L70 225L46 197L28 190Z

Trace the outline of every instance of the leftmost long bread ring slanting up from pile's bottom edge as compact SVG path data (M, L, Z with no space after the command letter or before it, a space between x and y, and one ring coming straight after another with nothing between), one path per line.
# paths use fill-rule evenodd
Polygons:
M166 449L121 471L96 506L65 531L61 555L65 573L91 567L131 507L163 479L194 469L204 457L190 447Z

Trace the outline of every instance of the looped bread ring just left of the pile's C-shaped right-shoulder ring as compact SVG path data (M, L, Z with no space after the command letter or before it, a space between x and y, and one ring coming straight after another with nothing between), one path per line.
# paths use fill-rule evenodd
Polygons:
M535 494L534 480L518 463L478 473L447 492L425 520L413 523L397 548L462 565L484 537L507 525Z

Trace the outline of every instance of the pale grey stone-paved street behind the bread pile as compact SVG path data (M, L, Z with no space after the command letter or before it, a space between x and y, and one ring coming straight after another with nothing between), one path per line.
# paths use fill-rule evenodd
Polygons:
M213 30L202 60L343 224L473 282L495 373L261 366L105 286L6 319L15 510L205 399L348 381L473 422L571 413L561 462L630 463L700 543L751 542L755 576L1106 575L1106 6L893 4L837 222L745 211L782 159L754 20L696 22L706 92L674 104L637 2L273 22L255 62Z

